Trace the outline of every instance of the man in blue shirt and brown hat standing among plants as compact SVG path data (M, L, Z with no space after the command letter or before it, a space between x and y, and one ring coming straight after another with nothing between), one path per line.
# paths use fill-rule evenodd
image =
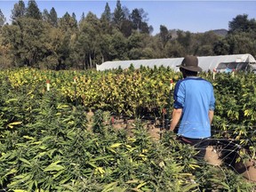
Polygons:
M197 76L202 68L198 67L196 56L186 56L182 60L180 72L184 77L178 81L173 93L173 111L170 130L180 122L178 139L194 146L198 153L195 158L203 160L211 137L211 124L215 108L212 84Z

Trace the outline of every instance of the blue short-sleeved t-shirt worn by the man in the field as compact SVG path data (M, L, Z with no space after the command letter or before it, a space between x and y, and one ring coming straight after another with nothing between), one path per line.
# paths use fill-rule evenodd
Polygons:
M173 108L182 108L179 135L192 139L211 137L209 110L215 108L212 84L199 76L177 82Z

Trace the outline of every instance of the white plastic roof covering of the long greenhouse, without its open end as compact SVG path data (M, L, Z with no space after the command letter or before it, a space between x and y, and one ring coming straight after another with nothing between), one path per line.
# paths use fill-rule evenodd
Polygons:
M156 67L170 67L174 71L179 71L177 65L180 65L183 58L169 58L169 59L154 59L154 60L115 60L107 61L100 65L96 65L97 70L106 70L114 68L129 68L131 64L134 68L140 66L154 68ZM251 54L235 54L235 55L220 55L220 56L205 56L198 57L198 65L203 68L203 71L213 70L218 68L220 63L248 63L255 64L256 61Z

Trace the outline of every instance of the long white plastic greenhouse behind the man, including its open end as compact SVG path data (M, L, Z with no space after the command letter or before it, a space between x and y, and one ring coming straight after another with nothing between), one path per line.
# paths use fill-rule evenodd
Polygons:
M177 65L180 65L183 58L166 58L153 60L115 60L103 62L97 65L97 70L107 70L114 68L129 68L131 64L134 68L140 66L154 68L163 66L165 68L173 68L174 71L179 71ZM256 72L256 61L251 54L234 54L234 55L219 55L219 56L204 56L198 57L198 65L203 68L203 71L212 71L216 69L218 72L228 72L230 70L244 70Z

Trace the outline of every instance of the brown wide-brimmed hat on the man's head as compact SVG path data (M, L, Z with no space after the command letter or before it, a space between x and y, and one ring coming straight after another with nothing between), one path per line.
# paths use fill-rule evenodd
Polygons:
M177 67L185 68L189 71L201 72L203 69L198 67L198 59L196 56L188 55L182 60L181 64Z

